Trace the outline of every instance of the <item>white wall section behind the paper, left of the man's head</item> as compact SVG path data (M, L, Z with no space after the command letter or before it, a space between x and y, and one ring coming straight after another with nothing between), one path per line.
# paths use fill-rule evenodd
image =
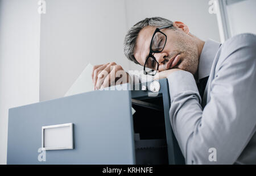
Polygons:
M41 20L40 101L63 97L89 62L128 69L123 0L47 1Z

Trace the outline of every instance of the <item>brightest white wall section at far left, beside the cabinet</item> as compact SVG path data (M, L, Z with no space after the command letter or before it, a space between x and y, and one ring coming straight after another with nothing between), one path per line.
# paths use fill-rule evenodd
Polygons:
M37 1L0 0L0 164L6 164L8 110L39 101Z

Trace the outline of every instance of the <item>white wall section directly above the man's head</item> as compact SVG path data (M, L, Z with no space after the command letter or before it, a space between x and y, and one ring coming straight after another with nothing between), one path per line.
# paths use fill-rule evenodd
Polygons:
M209 14L208 0L126 0L127 27L139 20L152 16L161 16L172 21L181 21L188 25L193 35L202 40L220 41L217 16ZM142 69L130 62L131 69Z

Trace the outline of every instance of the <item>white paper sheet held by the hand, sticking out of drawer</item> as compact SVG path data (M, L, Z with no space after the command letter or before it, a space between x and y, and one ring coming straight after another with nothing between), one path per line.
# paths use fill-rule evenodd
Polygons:
M94 85L92 81L92 70L93 66L89 63L73 85L69 88L64 97L93 91Z

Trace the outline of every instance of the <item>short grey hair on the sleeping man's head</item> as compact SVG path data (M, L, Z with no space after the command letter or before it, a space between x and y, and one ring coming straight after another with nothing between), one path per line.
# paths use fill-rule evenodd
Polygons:
M168 26L170 24L173 24L172 21L161 17L146 18L136 23L133 27L130 28L125 36L125 41L123 43L123 51L125 52L125 56L129 60L134 61L136 64L139 64L139 62L134 57L134 49L138 34L142 30L142 28L147 26L162 27ZM175 29L175 27L171 28Z

